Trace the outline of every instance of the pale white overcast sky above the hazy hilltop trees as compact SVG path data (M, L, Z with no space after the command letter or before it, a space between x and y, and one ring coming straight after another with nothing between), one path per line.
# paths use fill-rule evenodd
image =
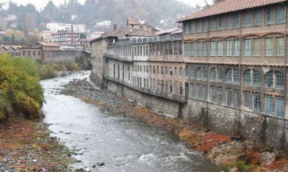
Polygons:
M5 1L9 1L9 0L0 0L0 2L5 2ZM56 5L60 5L61 3L64 3L64 0L52 0L54 4ZM69 0L67 0L68 2ZM84 3L85 0L78 0L80 3ZM121 1L121 0L119 0ZM155 0L157 1L157 0ZM187 3L189 5L191 5L192 7L195 7L196 4L199 5L205 5L205 1L204 0L177 0L177 1L182 1L184 3ZM207 0L208 3L211 3L213 0ZM32 3L33 5L36 6L37 9L39 8L43 8L45 7L45 5L47 5L47 3L49 2L49 0L12 0L12 2L17 3L17 4L23 4L26 5L27 3Z

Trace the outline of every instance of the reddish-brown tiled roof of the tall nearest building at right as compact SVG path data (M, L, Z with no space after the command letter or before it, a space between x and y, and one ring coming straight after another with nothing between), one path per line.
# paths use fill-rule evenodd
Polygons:
M224 0L212 5L200 12L195 12L190 16L181 18L177 22L183 22L185 20L192 20L195 18L202 18L206 16L214 16L217 14L223 14L227 12L235 12L239 10L244 10L248 8L256 8L264 5L269 5L273 3L280 3L287 0Z

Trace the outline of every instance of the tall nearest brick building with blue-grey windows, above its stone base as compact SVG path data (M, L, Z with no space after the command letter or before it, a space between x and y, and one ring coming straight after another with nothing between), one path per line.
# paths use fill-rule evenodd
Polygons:
M286 20L280 0L225 0L178 20L185 96L285 118Z

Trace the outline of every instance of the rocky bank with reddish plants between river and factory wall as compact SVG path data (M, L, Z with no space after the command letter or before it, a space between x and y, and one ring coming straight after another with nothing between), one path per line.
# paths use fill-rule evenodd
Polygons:
M169 119L149 109L117 97L108 90L95 90L87 81L73 81L64 85L62 94L75 96L85 102L101 106L104 111L125 115L145 123L169 130L187 143L187 146L206 152L208 159L223 167L224 171L287 171L287 155L270 147L261 147L241 137L217 134L197 124L181 119Z

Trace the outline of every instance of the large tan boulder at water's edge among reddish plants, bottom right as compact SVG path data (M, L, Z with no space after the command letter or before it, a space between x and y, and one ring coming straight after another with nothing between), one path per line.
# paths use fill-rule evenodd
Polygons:
M208 154L208 159L215 164L232 164L236 162L240 156L243 156L244 146L242 143L232 141L218 147L213 147Z

